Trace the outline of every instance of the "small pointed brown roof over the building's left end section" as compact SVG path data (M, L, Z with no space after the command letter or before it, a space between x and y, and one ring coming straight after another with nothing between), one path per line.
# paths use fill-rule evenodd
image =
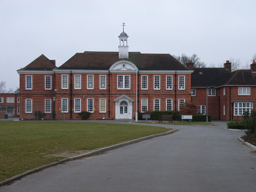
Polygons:
M57 68L55 66L55 60L49 60L44 54L40 55L38 58L36 58L34 61L32 61L30 64L28 64L26 67L19 69L20 70L46 70L51 71L53 69Z

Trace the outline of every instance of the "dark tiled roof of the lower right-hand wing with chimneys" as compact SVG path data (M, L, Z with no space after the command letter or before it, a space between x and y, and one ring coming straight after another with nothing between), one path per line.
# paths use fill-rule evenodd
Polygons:
M222 86L222 85L256 85L256 74L251 70L236 70L230 72L225 68L190 68L192 87Z

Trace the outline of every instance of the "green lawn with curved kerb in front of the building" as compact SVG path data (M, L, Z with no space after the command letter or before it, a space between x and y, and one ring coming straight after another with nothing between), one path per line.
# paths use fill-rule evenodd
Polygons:
M166 128L92 122L0 121L0 181L64 159L49 154L93 150Z

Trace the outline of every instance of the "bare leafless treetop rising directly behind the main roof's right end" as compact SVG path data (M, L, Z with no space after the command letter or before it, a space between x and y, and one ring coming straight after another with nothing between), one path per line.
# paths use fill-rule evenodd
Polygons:
M173 55L176 60L181 62L184 66L186 66L186 63L189 61L192 61L194 63L194 67L206 67L206 64L201 61L201 58L197 56L197 54L193 54L192 56L188 56L184 53L182 53L181 56L175 56Z

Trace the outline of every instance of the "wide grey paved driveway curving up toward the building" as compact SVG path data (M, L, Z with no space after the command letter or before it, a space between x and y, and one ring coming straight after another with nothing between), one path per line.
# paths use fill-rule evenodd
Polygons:
M218 126L171 126L174 134L73 160L0 192L255 192L256 154Z

